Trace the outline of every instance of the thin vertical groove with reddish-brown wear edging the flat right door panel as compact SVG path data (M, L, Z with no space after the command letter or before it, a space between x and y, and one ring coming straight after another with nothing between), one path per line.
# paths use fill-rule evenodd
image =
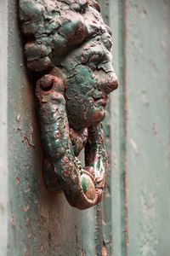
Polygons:
M128 211L127 211L127 60L126 60L126 22L127 3L118 3L119 15L119 80L120 80L120 175L122 212L122 256L128 251Z

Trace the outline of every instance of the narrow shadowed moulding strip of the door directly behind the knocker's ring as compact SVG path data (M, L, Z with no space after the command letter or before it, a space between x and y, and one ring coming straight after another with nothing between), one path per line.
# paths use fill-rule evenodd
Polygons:
M105 24L109 25L109 9L111 1L98 1ZM109 104L108 104L109 105ZM105 148L111 162L111 106L107 107L103 125L105 132ZM107 187L104 201L96 206L96 252L97 255L112 255L112 223L111 223L111 166L106 175Z

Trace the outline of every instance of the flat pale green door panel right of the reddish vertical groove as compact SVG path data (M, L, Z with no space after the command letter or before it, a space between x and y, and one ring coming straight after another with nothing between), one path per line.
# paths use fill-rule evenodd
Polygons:
M128 254L169 256L170 2L127 1L126 24Z

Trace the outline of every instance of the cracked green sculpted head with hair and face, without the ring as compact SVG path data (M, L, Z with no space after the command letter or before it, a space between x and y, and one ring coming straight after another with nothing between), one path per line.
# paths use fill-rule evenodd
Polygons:
M29 38L27 66L39 73L58 67L63 73L71 127L79 130L99 124L105 117L108 94L118 85L111 31L101 18L99 4L94 0L21 0L20 7L22 29Z

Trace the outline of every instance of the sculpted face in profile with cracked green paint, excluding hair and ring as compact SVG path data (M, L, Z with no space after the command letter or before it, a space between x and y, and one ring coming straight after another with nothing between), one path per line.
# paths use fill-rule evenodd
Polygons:
M111 40L107 31L105 37ZM83 44L67 56L64 64L68 67L65 98L70 125L75 129L98 125L105 118L108 95L118 85L110 49L99 36L98 44L94 40Z

